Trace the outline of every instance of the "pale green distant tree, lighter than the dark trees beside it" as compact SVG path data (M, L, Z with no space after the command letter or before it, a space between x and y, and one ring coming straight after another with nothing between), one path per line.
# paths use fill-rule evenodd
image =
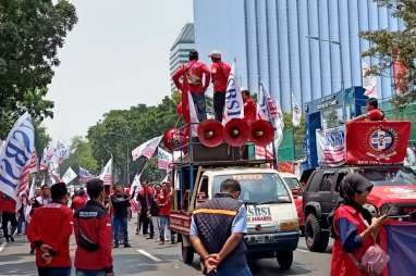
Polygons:
M70 147L70 156L65 159L60 166L63 174L70 166L76 171L78 166L87 168L91 173L98 174L98 163L93 156L91 146L88 140L81 136L72 138Z

